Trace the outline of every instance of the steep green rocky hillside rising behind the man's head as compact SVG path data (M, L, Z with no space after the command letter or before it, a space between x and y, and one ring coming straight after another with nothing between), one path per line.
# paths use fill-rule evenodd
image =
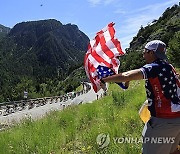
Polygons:
M121 60L121 71L139 68L145 64L142 51L147 42L159 39L167 45L169 62L180 67L180 6L167 8L158 20L141 27L126 49L127 55ZM133 62L132 62L133 61Z

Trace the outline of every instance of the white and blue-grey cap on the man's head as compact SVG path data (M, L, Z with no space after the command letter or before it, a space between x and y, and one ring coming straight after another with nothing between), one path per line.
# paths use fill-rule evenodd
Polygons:
M145 49L154 51L154 54L159 59L167 59L166 44L160 40L153 40L145 45Z

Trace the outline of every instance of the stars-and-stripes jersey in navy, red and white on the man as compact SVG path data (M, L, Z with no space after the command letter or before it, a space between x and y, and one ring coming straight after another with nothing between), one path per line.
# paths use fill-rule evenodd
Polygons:
M141 68L151 116L158 118L180 117L180 82L172 66L156 60Z

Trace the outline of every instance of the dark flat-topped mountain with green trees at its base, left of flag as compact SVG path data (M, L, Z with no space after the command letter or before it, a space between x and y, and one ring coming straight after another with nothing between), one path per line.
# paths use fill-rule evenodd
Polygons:
M82 66L88 42L77 25L55 19L16 24L0 41L0 100L21 98L23 89L45 95L43 83L48 95L57 94L51 88Z

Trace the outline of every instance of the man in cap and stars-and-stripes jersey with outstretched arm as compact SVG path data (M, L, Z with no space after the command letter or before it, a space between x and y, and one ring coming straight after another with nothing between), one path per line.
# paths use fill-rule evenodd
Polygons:
M170 154L180 142L180 85L172 66L166 62L165 52L164 42L150 41L143 51L146 65L101 79L102 87L105 82L145 79L151 119L144 136L143 154Z

